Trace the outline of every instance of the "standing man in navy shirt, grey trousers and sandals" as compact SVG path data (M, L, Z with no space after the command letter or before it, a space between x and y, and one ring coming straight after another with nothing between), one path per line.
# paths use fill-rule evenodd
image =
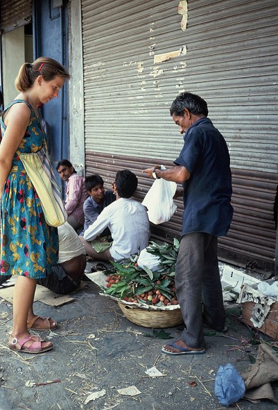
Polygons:
M180 339L162 348L166 354L205 353L202 325L225 329L225 309L218 269L218 236L232 221L232 175L225 139L207 118L207 102L190 92L173 101L171 116L184 147L175 167L148 168L149 177L183 185L182 239L175 268L177 300L185 329ZM177 195L176 195L177 197Z

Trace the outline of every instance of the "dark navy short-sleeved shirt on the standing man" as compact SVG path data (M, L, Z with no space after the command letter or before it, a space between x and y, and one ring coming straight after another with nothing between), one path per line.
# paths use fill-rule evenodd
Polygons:
M233 215L229 151L209 118L201 118L186 131L184 147L174 163L191 173L183 184L182 235L189 232L226 235Z

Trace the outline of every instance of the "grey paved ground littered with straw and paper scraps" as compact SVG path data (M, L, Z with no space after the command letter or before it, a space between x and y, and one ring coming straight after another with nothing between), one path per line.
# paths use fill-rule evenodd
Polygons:
M160 350L166 341L145 337L153 329L134 325L116 302L98 292L89 282L71 304L55 308L35 302L35 313L59 322L57 330L44 332L55 348L38 355L7 349L12 306L0 299L0 410L225 409L214 394L214 378L220 364L247 370L250 355L257 356L250 329L232 318L226 334L206 337L206 354L167 356ZM174 338L180 334L178 327L164 331ZM146 375L153 366L164 376ZM141 394L119 394L129 386ZM92 393L100 397L89 401ZM234 409L274 410L277 404L240 400Z

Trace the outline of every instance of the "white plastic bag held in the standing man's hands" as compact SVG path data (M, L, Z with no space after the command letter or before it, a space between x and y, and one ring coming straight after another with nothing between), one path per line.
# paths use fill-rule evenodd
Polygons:
M162 165L162 170L166 169ZM148 208L148 219L153 224L167 222L175 213L177 205L173 202L173 195L177 184L165 179L155 179L153 185L146 193L142 204Z

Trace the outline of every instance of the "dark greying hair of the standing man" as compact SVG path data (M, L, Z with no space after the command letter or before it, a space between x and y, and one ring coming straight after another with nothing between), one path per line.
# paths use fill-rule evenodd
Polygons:
M170 108L170 114L172 117L173 114L184 117L185 108L193 115L205 115L205 117L207 117L209 114L205 99L202 99L198 95L191 94L191 92L182 92L182 94L174 99Z

